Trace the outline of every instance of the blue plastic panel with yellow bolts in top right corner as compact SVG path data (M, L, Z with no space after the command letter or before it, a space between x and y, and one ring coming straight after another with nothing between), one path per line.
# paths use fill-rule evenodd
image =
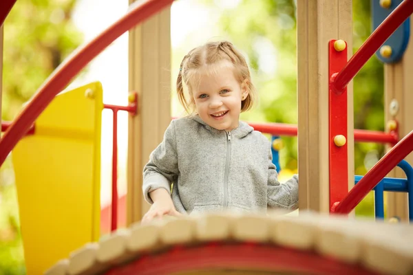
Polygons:
M372 29L377 27L386 19L389 14L402 2L403 0L392 0L390 8L382 8L379 0L372 0ZM383 63L396 63L399 61L406 50L407 43L410 37L410 18L406 19L399 28L385 41L383 45L392 47L392 55L390 58L381 56L380 49L377 50L376 55Z

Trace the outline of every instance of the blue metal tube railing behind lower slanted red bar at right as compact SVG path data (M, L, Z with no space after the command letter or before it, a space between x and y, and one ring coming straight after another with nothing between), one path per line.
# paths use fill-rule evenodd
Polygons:
M374 190L374 213L377 219L384 218L383 191L390 192L407 192L409 204L409 220L413 221L413 168L404 159L397 164L407 179L398 179L394 177L385 177ZM363 176L354 176L354 183L358 184Z

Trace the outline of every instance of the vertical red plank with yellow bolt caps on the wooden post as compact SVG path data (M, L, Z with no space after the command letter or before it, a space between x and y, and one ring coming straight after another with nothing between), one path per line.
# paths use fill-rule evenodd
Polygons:
M347 63L347 47L341 52L334 48L335 40L328 43L328 76L330 84L335 75ZM334 137L343 135L348 141L347 133L347 87L340 92L328 91L328 142L329 142L329 173L330 173L330 209L336 201L341 201L348 193L348 142L339 147L335 145Z

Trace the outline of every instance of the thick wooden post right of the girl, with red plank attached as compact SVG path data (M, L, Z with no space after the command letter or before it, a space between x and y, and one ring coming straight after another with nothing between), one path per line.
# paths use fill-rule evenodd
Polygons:
M352 1L297 0L299 209L329 212L328 41L352 56ZM348 137L354 136L352 83ZM348 185L354 186L354 139L348 138Z

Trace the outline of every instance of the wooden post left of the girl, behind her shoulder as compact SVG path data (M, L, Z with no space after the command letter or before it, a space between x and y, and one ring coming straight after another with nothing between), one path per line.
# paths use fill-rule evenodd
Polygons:
M171 122L170 13L165 8L129 32L129 91L138 92L138 114L129 116L128 225L149 209L142 197L142 169Z

